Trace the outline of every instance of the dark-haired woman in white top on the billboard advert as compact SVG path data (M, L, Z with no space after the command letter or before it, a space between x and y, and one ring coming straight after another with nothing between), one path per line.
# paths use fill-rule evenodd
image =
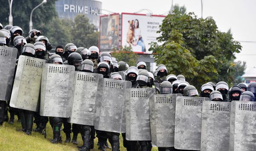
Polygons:
M145 44L143 42L142 36L141 36L141 31L139 28L139 21L136 19L134 20L134 46L140 45L142 47L142 52L145 52Z

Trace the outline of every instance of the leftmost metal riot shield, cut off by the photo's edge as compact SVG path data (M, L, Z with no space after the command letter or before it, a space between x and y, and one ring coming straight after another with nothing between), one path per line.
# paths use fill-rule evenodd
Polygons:
M17 49L0 46L0 101L9 101L15 72Z

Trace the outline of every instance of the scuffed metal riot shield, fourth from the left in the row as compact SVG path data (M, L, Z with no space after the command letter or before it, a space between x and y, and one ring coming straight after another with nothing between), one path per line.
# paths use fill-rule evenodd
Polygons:
M103 75L75 72L73 104L68 122L94 126L99 78L103 78Z

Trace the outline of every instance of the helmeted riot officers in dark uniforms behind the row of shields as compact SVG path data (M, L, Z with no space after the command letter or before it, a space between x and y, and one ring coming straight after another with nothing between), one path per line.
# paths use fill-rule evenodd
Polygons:
M52 49L52 45L46 36L41 35L38 30L29 31L29 35L24 38L23 30L18 26L0 25L0 46L17 48L17 62L20 55L46 59L52 64L68 64L75 66L76 71L102 74L104 78L131 81L132 88L155 88L156 94L177 94L189 97L208 97L210 101L255 101L256 82L249 85L241 83L237 86L229 87L224 81L217 84L208 82L203 84L198 90L190 85L183 75L167 75L166 66L160 64L154 73L146 70L145 62L138 62L137 67L129 67L127 63L119 61L109 53L99 54L96 46L89 49L84 47L77 48L73 43L68 43L64 48L58 45L55 48L55 54L50 56L47 51ZM119 73L123 71L124 77ZM10 118L7 112L10 113ZM67 118L44 117L38 112L32 112L24 109L15 109L9 106L9 101L0 101L0 125L4 121L10 124L14 123L14 116L18 116L18 122L21 123L21 129L30 135L31 131L44 134L46 137L46 125L49 123L53 130L53 139L51 143L62 143L60 134L61 127L64 125L65 143L77 143L78 134L81 134L83 145L78 146L81 151L89 151L94 146L95 133L98 137L99 150L105 151L105 148L111 148L113 151L119 151L119 133L105 132L95 130L93 126L72 124L67 122ZM36 129L32 129L34 123ZM72 130L71 130L72 128ZM73 132L73 138L70 134ZM152 148L150 141L128 141L125 139L125 133L122 134L124 147L128 151L150 151ZM111 147L107 143L111 143ZM171 151L175 148L158 148L160 151Z

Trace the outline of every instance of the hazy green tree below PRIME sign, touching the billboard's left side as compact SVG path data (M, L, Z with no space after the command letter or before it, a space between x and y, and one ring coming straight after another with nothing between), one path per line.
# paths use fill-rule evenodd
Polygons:
M99 32L95 31L95 26L89 22L84 14L78 14L75 18L74 26L71 28L73 43L78 47L98 46Z

